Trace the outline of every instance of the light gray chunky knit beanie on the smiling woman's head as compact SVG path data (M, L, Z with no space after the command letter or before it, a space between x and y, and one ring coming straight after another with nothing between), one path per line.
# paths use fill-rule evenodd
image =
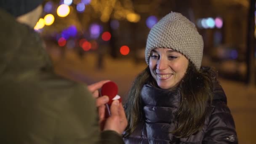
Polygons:
M195 24L181 13L171 12L152 27L147 37L145 59L149 64L150 52L155 48L171 48L189 59L197 70L203 58L203 38Z

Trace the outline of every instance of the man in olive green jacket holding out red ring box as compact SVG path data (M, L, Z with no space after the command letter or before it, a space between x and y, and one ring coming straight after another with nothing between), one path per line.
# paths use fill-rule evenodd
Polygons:
M0 143L122 144L127 119L118 101L99 130L108 99L91 93L96 96L106 81L84 88L53 72L33 29L42 1L0 1Z

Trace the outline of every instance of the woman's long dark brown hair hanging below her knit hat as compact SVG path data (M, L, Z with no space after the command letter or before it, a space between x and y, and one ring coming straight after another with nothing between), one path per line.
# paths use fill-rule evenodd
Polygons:
M213 71L211 69L211 71ZM134 80L128 92L125 104L125 113L128 127L125 135L130 135L139 121L143 120L143 104L141 103L141 89L144 84L156 85L149 67L144 69ZM194 64L189 62L187 72L183 79L176 85L181 91L181 103L176 112L176 129L172 131L177 138L188 137L203 127L206 115L210 112L213 99L213 84L209 71L197 71Z

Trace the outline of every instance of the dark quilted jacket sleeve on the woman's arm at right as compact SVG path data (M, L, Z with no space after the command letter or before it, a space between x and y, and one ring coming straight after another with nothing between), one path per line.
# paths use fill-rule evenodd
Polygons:
M223 101L213 101L213 106L203 144L238 144L235 123L229 108Z

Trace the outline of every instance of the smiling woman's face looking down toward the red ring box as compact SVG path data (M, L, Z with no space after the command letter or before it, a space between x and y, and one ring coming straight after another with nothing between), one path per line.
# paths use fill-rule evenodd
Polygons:
M184 77L189 60L170 48L155 48L150 53L149 69L157 85L163 89L173 88Z

